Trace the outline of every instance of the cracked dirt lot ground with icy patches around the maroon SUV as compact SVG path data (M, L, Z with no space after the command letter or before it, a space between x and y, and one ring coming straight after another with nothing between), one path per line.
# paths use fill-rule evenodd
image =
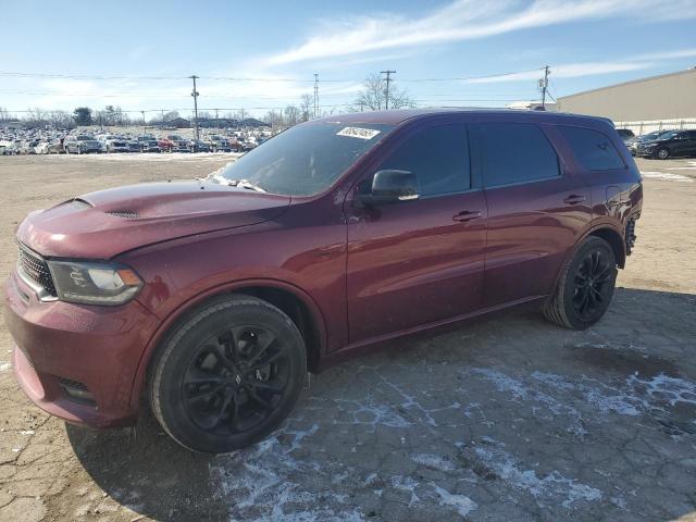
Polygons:
M0 158L0 275L28 211L226 161ZM105 433L49 418L0 326L0 520L696 521L696 161L639 166L636 249L596 327L518 313L391 343L313 376L234 455L194 455L149 415Z

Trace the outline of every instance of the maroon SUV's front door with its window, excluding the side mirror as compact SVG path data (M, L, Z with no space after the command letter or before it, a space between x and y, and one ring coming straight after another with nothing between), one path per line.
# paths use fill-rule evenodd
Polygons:
M487 210L472 181L467 125L413 132L365 181L388 169L414 173L420 197L348 211L350 343L481 307Z

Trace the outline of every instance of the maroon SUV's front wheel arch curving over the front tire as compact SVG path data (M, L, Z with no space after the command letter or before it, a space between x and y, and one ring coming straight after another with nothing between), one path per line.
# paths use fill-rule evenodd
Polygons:
M130 406L137 408L142 389L147 383L153 356L167 335L183 318L204 306L213 298L225 294L244 294L263 299L275 306L297 325L307 348L307 368L315 372L325 351L326 327L319 306L304 290L286 282L276 279L246 279L210 288L187 300L171 312L152 335L138 362L130 394Z

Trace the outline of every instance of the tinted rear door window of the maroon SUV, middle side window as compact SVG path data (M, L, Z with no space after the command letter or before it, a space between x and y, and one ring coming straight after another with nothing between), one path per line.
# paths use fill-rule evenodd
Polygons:
M484 186L496 187L560 175L556 151L536 125L482 123L478 128Z

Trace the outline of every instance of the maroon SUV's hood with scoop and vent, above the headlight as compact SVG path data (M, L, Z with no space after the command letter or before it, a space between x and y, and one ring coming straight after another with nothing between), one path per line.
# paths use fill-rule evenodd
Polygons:
M17 239L42 256L109 259L153 243L262 223L290 198L209 182L130 185L32 212Z

